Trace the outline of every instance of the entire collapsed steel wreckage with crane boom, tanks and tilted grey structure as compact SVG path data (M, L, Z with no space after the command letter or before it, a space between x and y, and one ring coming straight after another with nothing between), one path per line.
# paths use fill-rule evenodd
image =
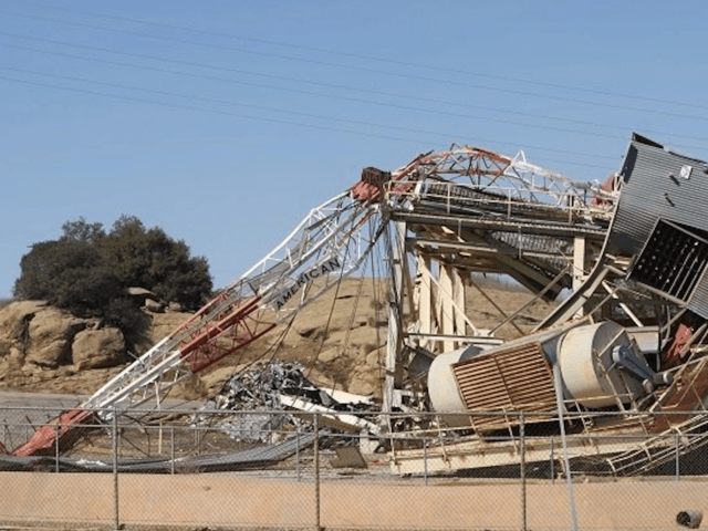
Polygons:
M431 449L392 445L395 471L512 460L521 418L568 423L571 455L601 458L614 473L646 470L666 458L666 434L702 434L708 423L694 413L708 393L707 174L706 163L637 134L602 187L534 166L523 153L456 145L393 171L365 168L360 183L312 209L190 321L69 412L61 430L39 430L14 454L69 441L95 408L121 414L159 398L288 322L382 249L391 284L383 406L364 425L383 426L374 431L389 438L438 436ZM475 279L490 272L562 302L531 334L516 325L529 303L481 329L466 292L488 296ZM498 337L503 325L517 336ZM391 419L399 410L435 415L397 431ZM490 437L499 431L511 438ZM617 437L594 441L601 433ZM707 441L693 437L681 451ZM546 457L543 445L527 455Z

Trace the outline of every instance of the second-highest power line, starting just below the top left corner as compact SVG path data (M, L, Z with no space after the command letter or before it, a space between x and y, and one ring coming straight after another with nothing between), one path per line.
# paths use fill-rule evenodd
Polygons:
M673 113L673 112L667 112L667 111L658 111L658 110L652 110L652 108L645 108L645 107L633 107L633 106L627 106L627 105L618 105L618 104L611 104L611 103L604 103L604 102L594 102L594 101L590 101L590 100L580 100L580 98L573 98L573 97L555 96L555 95L550 95L550 94L538 94L538 93L533 93L533 92L519 91L519 90L513 90L513 88L501 88L501 87L496 87L496 86L479 85L479 84L465 83L465 82L458 82L458 81L452 81L452 80L440 80L440 79L433 79L433 77L426 77L426 76L414 75L414 74L403 74L403 73L389 72L389 71L377 70L377 69L369 69L369 67L365 67L365 66L343 65L343 64L340 64L340 63L332 63L332 62L327 62L327 61L320 61L320 60L313 60L313 59L303 59L303 58L296 58L296 56L293 56L293 55L284 55L284 54L278 54L278 53L254 51L254 50L248 50L248 49L242 49L242 48L223 46L223 45L210 44L210 43L205 43L205 42L195 42L195 41L188 41L188 40L185 40L185 39L176 39L176 38L164 37L164 35L152 35L152 34L140 33L140 32L137 32L137 31L121 30L121 29L116 29L116 28L107 28L107 27L103 27L103 25L87 24L87 23L76 22L76 21L58 20L58 19L52 19L50 17L40 17L40 15L31 15L31 14L12 13L12 12L1 11L1 10L0 10L0 13L7 14L9 17L18 17L18 18L25 18L25 19L42 20L42 21L52 22L52 23L67 24L67 25L74 25L74 27L81 27L81 28L90 28L90 29L93 29L93 30L110 31L110 32L136 35L136 37L140 37L140 38L154 39L154 40L177 42L177 43L180 43L180 44L204 46L204 48L216 49L216 50L229 50L229 51L235 51L235 52L239 52L239 53L247 53L247 54L252 54L252 55L258 55L258 56L284 59L284 60L288 60L288 61L295 61L295 62L304 62L304 63L309 63L309 64L316 64L319 66L332 66L332 67L337 67L337 69L355 70L355 71L360 71L360 72L375 73L375 74L381 74L381 75L388 75L388 76L406 79L406 80L435 82L435 83L440 83L440 84L470 87L470 88L479 88L479 90L486 90L486 91L491 91L491 92L504 92L504 93L508 93L508 94L531 96L531 97L538 97L538 98L543 98L543 100L562 101L562 102L568 102L568 103L592 105L592 106L597 106L597 107L615 108L615 110L622 110L622 111L633 111L633 112L641 112L641 113L650 113L650 114L657 114L657 115L662 115L662 116L673 116L673 117L685 118L685 119L696 119L696 121L701 121L701 122L708 122L708 117L704 117L704 116L687 115L687 114Z

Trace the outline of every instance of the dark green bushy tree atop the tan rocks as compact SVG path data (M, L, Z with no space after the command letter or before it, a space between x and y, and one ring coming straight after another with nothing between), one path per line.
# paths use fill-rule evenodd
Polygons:
M158 227L146 229L134 216L121 216L108 233L102 223L83 217L65 222L62 230L58 240L34 243L22 257L15 298L46 300L135 336L144 319L127 288L145 288L189 310L211 294L207 260L191 257L184 241Z

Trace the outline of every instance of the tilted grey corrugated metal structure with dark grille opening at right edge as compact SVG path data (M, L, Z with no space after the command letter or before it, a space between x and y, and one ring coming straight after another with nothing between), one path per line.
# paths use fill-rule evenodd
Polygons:
M636 133L607 252L634 257L628 279L708 317L708 165Z

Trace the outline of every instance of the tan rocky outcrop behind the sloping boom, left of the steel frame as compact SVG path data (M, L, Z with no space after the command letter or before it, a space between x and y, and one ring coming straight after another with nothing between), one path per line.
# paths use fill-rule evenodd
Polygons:
M195 377L212 391L264 355L308 367L323 388L378 395L382 388L385 331L368 324L373 305L368 284L342 283L303 309L293 325L279 326L258 342L207 367ZM92 394L192 314L158 300L148 290L131 298L149 322L138 344L126 345L119 330L97 319L80 319L43 301L17 301L0 309L0 388ZM362 294L352 313L350 300ZM340 302L340 299L344 302ZM148 301L152 301L148 303ZM153 304L155 303L155 304ZM332 314L330 314L332 312ZM133 352L128 354L126 348ZM177 396L179 389L171 392Z

